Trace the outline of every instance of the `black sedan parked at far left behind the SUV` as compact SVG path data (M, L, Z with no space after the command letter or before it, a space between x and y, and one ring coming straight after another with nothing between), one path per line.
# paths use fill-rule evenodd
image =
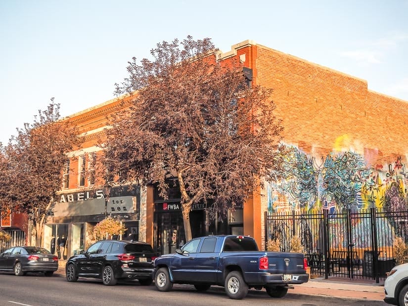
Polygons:
M39 247L12 247L0 254L0 271L25 275L27 272L44 272L52 276L58 269L58 257Z

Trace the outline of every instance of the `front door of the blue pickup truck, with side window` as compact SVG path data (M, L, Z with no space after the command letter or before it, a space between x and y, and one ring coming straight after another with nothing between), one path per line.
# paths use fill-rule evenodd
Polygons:
M175 280L192 281L195 279L195 257L201 242L200 238L188 241L182 248L182 254L175 254L172 273Z

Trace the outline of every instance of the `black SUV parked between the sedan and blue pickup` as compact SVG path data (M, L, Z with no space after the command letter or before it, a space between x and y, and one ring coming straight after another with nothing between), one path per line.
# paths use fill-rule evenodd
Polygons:
M150 244L140 241L101 240L65 266L69 282L78 277L101 278L104 285L116 285L118 279L137 279L141 285L152 283L153 262L157 257Z

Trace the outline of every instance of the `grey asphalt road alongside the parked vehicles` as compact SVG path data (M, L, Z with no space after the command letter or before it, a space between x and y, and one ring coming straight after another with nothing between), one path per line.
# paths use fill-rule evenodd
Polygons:
M379 306L383 302L305 301L291 295L272 299L265 291L250 290L241 301L231 300L224 288L213 286L205 293L198 293L193 286L174 285L170 292L159 292L154 285L141 286L137 281L120 282L104 286L99 280L80 278L68 283L64 277L45 277L43 274L15 276L0 272L1 306L128 306L128 305L180 305L180 306L239 306L239 305L290 305L290 306Z

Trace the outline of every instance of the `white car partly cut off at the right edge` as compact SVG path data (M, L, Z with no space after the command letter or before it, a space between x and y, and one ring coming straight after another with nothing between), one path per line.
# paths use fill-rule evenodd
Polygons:
M384 282L384 302L408 306L408 263L392 268Z

